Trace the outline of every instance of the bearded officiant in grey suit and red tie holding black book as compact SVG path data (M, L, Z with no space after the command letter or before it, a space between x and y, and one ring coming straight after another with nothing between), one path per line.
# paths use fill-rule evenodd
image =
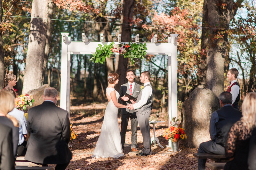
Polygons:
M118 99L118 103L127 105L127 101L129 100L128 97L125 97L125 93L130 94L133 97L138 97L140 93L140 85L134 81L135 73L132 70L126 71L126 78L128 80L127 83L123 84L120 88L119 94L120 97ZM125 109L123 108L121 111L122 114L122 122L121 122L121 143L124 150L124 143L125 143L125 133L127 130L129 118L131 118L131 129L132 129L132 152L139 152L136 148L137 145L137 127L138 121L135 110Z

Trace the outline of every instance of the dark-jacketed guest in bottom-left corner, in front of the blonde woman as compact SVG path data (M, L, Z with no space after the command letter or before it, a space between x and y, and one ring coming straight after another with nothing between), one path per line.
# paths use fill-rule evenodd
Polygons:
M15 170L12 149L12 128L0 123L0 169Z

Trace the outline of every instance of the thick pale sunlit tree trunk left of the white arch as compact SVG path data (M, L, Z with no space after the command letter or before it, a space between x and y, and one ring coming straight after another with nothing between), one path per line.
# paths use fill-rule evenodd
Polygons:
M51 20L39 18L52 18L52 8L52 0L33 0L32 2L31 17L38 18L31 18L30 20L22 93L43 85L50 48Z

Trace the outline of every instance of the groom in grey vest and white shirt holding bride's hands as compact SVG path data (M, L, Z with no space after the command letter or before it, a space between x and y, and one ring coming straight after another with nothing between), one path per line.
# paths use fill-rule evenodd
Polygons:
M150 73L144 71L140 75L140 82L144 83L141 87L140 94L137 98L136 103L132 101L133 104L129 104L130 109L135 109L137 114L137 120L140 125L140 131L143 137L144 148L137 155L147 156L151 155L151 142L150 142L150 127L149 127L149 116L151 114L153 105L153 89L149 82Z

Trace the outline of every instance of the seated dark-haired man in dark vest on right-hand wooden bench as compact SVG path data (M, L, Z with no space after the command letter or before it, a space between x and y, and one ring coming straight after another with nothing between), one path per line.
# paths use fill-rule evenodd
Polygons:
M201 143L197 153L225 155L224 147L228 131L242 117L242 113L234 109L231 105L231 93L222 92L220 93L219 99L221 108L212 113L210 120L210 136L212 140ZM198 170L204 170L205 163L206 159L198 159Z

